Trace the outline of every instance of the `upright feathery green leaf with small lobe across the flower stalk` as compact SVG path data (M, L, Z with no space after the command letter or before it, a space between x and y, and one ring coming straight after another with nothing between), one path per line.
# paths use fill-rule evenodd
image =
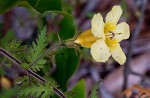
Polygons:
M30 56L28 61L30 64L34 62L42 53L44 48L47 46L47 38L46 38L46 27L41 31L41 34L38 35L38 39L36 40L36 43L32 43L32 47L30 48ZM39 71L43 65L46 63L45 59L38 60L31 68L34 71Z

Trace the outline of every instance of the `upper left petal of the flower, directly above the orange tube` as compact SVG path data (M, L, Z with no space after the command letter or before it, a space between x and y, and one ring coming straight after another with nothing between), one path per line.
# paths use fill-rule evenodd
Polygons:
M92 18L92 33L95 37L104 38L104 21L100 13Z

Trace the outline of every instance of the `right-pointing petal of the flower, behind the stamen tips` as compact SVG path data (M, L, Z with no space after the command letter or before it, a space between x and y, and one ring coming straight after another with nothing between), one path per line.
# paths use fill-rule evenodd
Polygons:
M119 23L114 33L116 33L115 38L118 42L123 39L128 39L130 36L129 25L126 22Z

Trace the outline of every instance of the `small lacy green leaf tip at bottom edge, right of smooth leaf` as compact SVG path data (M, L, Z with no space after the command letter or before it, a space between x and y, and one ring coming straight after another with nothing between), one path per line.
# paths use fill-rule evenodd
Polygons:
M97 82L93 88L92 88L92 91L91 91L91 95L90 95L90 98L98 98L98 88L99 88L99 85L100 85L100 81Z

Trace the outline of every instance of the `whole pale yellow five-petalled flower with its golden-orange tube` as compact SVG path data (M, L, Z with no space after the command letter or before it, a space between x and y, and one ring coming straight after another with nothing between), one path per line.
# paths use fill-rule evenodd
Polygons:
M91 54L95 61L105 62L112 57L121 65L126 61L119 42L130 36L129 25L126 22L117 24L121 17L120 6L113 6L106 15L105 23L100 13L95 14L91 21L91 29L81 33L75 43L86 48L91 48Z

